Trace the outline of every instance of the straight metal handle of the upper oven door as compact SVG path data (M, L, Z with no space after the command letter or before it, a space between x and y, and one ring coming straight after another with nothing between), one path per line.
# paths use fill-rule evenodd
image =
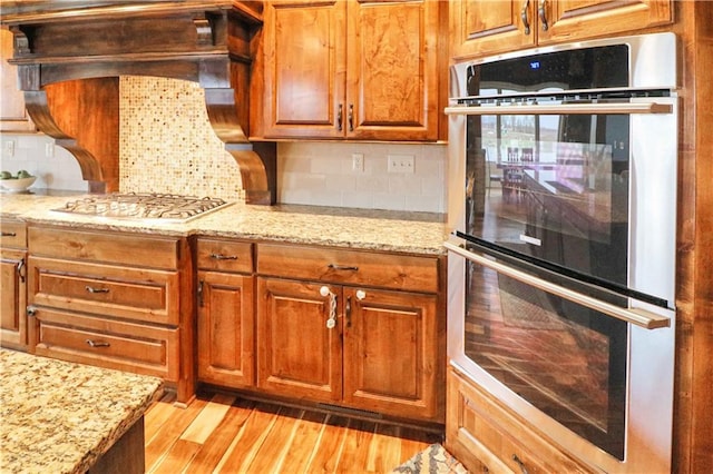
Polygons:
M615 102L615 103L557 103L522 106L451 106L446 115L458 116L531 116L531 115L597 115L597 113L671 113L671 103L658 102Z

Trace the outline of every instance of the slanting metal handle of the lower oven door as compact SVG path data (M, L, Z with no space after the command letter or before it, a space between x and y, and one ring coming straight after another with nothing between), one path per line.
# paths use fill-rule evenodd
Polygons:
M520 271L517 268L512 268L508 265L504 265L499 261L487 258L484 255L468 251L451 241L446 241L443 243L443 245L448 250L458 254L468 260L475 261L478 265L482 265L484 267L490 268L499 274L517 279L518 282L534 286L538 289L568 299L570 302L580 304L582 306L586 306L607 316L625 320L626 323L635 324L636 326L641 326L646 329L656 329L660 327L671 326L671 318L666 316L657 315L642 308L622 308L600 299L593 298L592 296L582 294L579 292L574 292L569 288L565 288L564 286L556 285L541 278L537 278L530 274Z

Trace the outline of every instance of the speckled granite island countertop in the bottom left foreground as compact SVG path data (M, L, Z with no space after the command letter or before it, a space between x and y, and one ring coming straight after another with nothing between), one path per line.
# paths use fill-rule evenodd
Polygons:
M159 378L0 349L0 471L84 473L163 393Z

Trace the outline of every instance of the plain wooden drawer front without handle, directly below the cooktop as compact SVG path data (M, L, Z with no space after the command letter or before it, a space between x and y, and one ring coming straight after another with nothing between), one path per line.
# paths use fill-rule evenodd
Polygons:
M177 269L179 240L118 233L30 227L30 254L110 264Z

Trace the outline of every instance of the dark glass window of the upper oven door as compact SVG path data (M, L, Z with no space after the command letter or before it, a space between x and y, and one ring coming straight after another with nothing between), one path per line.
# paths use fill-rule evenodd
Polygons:
M626 285L628 115L468 116L466 139L466 234Z

